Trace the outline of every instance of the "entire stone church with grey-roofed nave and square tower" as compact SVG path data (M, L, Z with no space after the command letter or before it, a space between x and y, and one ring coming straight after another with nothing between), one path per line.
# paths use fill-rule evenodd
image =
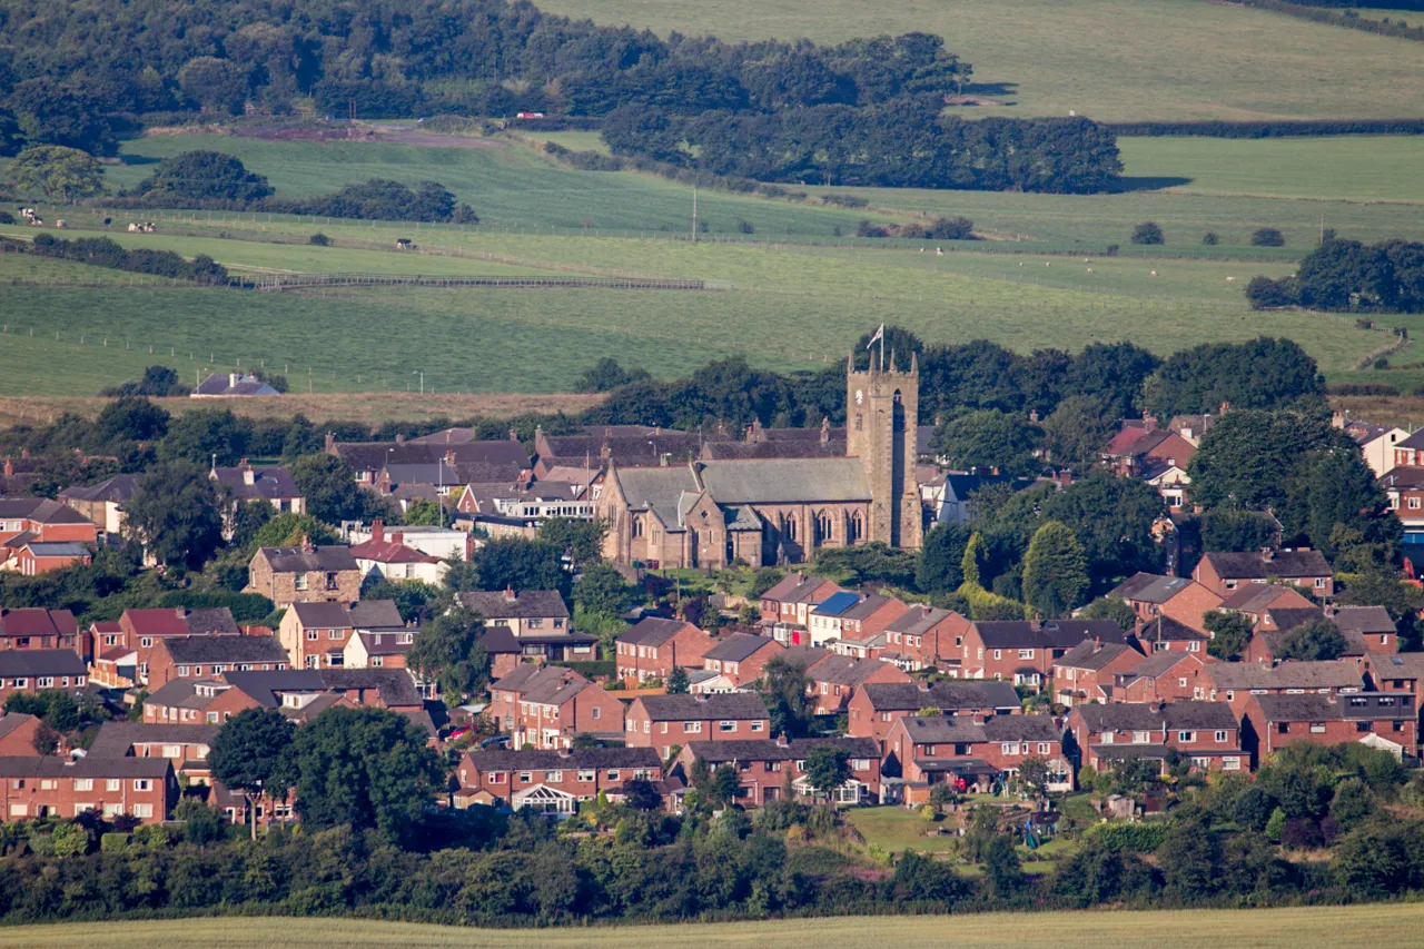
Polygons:
M604 556L659 567L802 563L817 547L923 540L914 480L920 372L846 365L846 456L617 467L598 497ZM772 443L775 445L775 443Z

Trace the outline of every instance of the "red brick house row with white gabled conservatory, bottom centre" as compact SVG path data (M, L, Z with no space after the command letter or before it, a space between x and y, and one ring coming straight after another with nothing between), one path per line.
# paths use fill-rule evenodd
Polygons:
M662 781L652 748L560 748L551 751L468 751L457 768L454 805L506 805L568 815L581 801L624 797L629 781Z

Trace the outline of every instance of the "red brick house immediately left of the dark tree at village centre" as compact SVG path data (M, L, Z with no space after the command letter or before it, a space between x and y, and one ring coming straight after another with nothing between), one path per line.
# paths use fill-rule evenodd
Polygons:
M624 717L624 741L666 758L689 741L766 738L770 715L756 693L639 695Z

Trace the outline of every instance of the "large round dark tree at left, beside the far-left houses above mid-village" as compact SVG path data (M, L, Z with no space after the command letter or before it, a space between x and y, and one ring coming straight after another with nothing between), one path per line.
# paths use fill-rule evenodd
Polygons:
M124 506L124 533L159 563L199 570L222 544L222 514L208 472L197 465L158 465Z

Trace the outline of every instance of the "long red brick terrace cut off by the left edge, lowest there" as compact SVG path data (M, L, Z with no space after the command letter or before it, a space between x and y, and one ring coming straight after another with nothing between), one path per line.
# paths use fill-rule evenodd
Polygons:
M4 821L94 811L161 824L178 802L178 778L167 758L0 758L0 788Z

